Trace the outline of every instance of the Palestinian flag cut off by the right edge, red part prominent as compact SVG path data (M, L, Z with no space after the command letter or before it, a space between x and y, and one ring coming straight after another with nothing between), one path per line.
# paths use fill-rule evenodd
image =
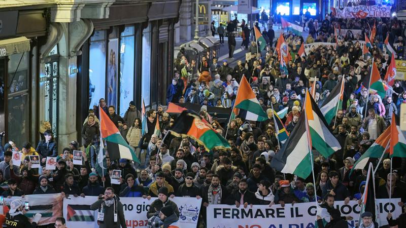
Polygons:
M392 113L392 123L390 125L389 156L391 158L406 158L406 138L400 127L396 124L395 113Z

